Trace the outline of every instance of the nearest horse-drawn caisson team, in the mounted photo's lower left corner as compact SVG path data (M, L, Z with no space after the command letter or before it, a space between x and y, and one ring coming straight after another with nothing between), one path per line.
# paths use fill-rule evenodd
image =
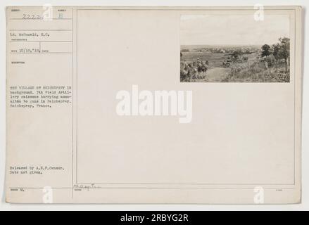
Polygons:
M205 79L208 70L208 61L203 62L199 58L192 63L181 63L180 65L180 81L192 82L196 79Z

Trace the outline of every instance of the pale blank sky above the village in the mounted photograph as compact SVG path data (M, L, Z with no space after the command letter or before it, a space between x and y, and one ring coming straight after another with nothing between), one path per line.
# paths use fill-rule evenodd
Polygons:
M263 45L289 37L289 15L182 15L181 45Z

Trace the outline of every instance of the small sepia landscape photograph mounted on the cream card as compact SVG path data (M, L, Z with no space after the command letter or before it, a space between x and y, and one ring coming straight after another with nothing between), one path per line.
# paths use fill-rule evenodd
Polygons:
M290 82L289 15L182 15L180 82Z

